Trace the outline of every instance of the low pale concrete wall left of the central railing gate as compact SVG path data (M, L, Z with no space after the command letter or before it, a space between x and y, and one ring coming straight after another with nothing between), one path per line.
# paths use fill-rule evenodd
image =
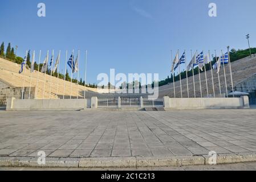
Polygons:
M6 110L80 110L87 108L87 100L16 100L7 98Z

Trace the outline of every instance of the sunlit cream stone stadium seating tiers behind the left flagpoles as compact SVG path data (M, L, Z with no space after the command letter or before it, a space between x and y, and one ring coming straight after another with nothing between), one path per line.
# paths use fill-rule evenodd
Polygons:
M51 98L58 99L63 98L83 98L84 97L84 86L78 85L76 83L71 83L69 81L64 81L62 79L58 79L56 77L51 77L50 75L45 75L44 73L34 71L34 73L30 73L29 69L26 69L25 74L19 74L19 69L21 65L13 63L11 61L0 58L0 78L5 82L8 82L10 85L13 85L17 88L23 87L23 81L25 78L24 86L37 88L35 90L35 96L38 99L42 98ZM38 79L37 79L38 78ZM38 80L38 82L36 82ZM51 85L51 89L50 89ZM65 85L65 87L64 87ZM43 92L44 88L44 92ZM86 91L97 92L97 89L86 88Z

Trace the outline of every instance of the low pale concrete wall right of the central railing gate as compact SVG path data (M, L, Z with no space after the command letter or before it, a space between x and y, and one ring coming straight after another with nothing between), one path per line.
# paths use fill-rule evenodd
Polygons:
M247 96L240 98L169 98L164 97L165 109L249 109Z

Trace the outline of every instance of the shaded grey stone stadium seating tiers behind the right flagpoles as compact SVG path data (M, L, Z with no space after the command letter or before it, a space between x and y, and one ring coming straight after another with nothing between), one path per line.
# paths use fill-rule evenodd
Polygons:
M233 84L235 87L235 85L237 85L239 82L245 80L248 77L253 76L256 73L256 56L253 55L253 57L249 56L241 60L234 61L233 63L231 63L231 69L232 69L232 76L233 76ZM229 93L231 91L231 76L230 76L230 67L227 64L225 65L225 71L226 71L227 89ZM205 72L200 73L200 76L201 76L202 96L207 97ZM209 97L213 97L213 84L212 84L211 71L206 72L206 77L208 81ZM199 75L195 75L194 80L195 80L195 87L196 87L196 97L201 97ZM217 70L213 70L213 80L214 80L214 91L216 93L216 97L220 97L220 86L218 82ZM189 83L189 97L194 97L193 77L188 78L188 83ZM220 84L221 84L221 94L222 94L222 97L224 97L224 94L226 93L226 86L225 86L225 77L224 77L223 67L221 68L221 71L220 71ZM186 98L188 97L186 79L181 80L181 85L182 85L182 96ZM176 88L176 97L181 97L180 81L175 82L175 88ZM159 95L160 97L164 97L164 96L174 97L173 83L169 85L161 86L159 88Z

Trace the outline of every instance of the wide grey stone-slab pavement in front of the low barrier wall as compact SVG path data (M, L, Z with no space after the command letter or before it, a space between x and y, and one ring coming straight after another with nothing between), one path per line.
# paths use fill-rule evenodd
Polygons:
M255 110L0 111L0 157L256 152Z

